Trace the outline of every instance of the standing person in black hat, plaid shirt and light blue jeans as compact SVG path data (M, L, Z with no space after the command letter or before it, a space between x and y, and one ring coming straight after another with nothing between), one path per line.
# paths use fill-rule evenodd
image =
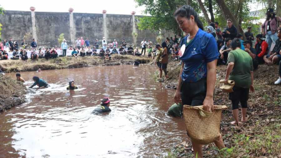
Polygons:
M276 17L272 8L268 8L266 11L266 20L262 25L262 34L265 36L265 41L268 44L269 50L271 50L271 44L278 39L277 28L278 23L281 22L281 17Z

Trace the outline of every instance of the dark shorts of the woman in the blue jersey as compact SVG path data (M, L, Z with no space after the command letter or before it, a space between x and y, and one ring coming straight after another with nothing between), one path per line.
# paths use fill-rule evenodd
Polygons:
M197 82L182 82L180 96L183 105L203 105L207 93L207 79L203 78Z

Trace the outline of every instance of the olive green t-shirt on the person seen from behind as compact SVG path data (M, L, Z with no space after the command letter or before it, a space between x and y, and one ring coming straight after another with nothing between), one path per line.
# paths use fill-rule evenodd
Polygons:
M253 60L249 53L241 49L231 50L228 54L228 62L234 62L229 79L235 81L235 86L250 88Z

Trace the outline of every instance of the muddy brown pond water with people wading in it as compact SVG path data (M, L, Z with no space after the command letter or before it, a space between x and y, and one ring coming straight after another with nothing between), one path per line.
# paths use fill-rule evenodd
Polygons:
M155 66L119 65L22 72L51 87L0 114L0 157L163 157L186 140L184 121L167 116L175 90L155 82ZM15 74L7 74L15 78ZM74 80L79 89L68 91ZM103 97L111 112L91 114Z

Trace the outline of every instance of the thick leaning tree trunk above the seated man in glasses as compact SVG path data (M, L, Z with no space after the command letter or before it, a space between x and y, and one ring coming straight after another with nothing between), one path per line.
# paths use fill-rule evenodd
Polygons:
M237 28L238 33L242 34L244 39L246 39L244 31L242 27L239 25L233 14L230 12L229 8L226 6L224 0L216 0L218 3L219 7L221 8L221 11L224 14L225 19L231 19L233 22L233 25Z

